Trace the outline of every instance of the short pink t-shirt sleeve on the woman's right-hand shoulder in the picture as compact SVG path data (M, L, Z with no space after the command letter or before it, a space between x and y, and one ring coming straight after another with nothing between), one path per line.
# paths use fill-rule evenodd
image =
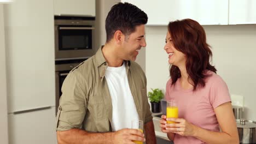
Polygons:
M210 89L210 103L213 109L230 101L228 86L220 76L216 75Z

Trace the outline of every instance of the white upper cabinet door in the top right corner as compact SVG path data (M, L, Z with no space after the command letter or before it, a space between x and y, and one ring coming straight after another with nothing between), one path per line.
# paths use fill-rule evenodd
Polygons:
M229 0L229 24L256 23L255 0Z

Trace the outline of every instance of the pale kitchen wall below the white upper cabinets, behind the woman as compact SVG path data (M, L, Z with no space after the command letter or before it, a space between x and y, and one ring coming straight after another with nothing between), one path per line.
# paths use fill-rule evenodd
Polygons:
M230 94L243 95L243 118L256 121L256 25L203 26L207 43L212 46L213 65L223 77ZM166 26L148 26L146 76L148 90L165 91L169 79L167 54L164 51Z

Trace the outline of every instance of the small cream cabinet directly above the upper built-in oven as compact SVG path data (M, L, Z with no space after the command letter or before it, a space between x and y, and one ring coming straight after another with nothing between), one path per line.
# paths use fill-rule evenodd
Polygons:
M54 15L95 16L95 0L54 0Z

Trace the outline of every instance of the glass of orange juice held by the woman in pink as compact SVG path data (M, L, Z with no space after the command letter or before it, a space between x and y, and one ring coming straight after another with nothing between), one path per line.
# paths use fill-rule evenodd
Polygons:
M167 101L166 118L178 118L178 106L176 100ZM167 123L175 123L167 121Z

